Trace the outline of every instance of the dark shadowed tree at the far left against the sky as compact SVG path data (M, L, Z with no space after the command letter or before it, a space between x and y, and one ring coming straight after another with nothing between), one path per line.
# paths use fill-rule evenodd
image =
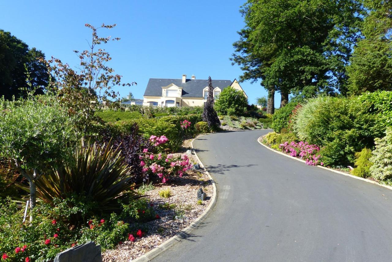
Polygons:
M10 32L0 30L0 96L11 99L25 96L22 89L35 89L36 94L44 93L50 76L46 66L38 58L45 58L42 51L29 46ZM29 84L26 82L26 69L30 74Z

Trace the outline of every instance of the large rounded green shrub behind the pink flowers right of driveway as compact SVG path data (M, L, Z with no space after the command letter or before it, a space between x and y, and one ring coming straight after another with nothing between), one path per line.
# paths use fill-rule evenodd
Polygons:
M321 147L325 165L352 165L355 153L372 148L385 124L358 98L318 97L299 108L294 118L294 133L300 140Z

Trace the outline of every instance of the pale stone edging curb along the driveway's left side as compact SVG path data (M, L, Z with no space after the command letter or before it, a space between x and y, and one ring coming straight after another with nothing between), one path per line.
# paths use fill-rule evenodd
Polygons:
M204 135L207 135L207 134L204 134ZM200 135L200 136L204 136L204 135ZM203 220L205 218L207 218L207 216L211 213L212 208L215 206L216 200L218 200L218 191L216 190L215 181L212 178L212 176L210 175L210 173L207 171L207 169L205 168L204 164L201 162L200 158L196 154L196 151L194 150L194 147L193 147L193 141L196 138L199 138L200 136L193 138L193 140L191 142L191 146L192 146L192 151L195 154L200 166L204 169L205 173L212 180L212 187L214 189L214 195L212 196L211 203L209 204L207 209L205 209L205 211L200 215L200 217L196 218L196 220L194 222L192 222L189 226L187 226L185 229L183 229L182 231L177 233L174 237L169 238L168 240L166 240L165 242L160 244L158 247L150 250L149 252L145 253L144 255L142 255L132 261L134 261L134 262L148 262L148 261L152 260L153 258L157 257L158 255L160 255L163 251L166 251L167 249L169 249L172 245L174 245L177 242L180 242L182 239L188 237L189 234L194 229L196 229L198 226L200 226L201 222L203 222Z

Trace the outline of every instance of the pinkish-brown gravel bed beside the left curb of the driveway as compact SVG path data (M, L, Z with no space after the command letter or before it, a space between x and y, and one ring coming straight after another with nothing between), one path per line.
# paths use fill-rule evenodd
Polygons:
M192 139L185 140L182 149L185 151L189 149L191 141ZM193 154L189 158L192 160L192 164L197 163ZM200 187L203 188L208 197L201 205L198 205L196 196ZM159 191L167 188L170 188L172 196L161 198ZM149 228L144 237L136 238L135 242L124 241L116 249L103 252L103 262L132 261L158 247L165 240L189 226L200 217L210 204L213 195L212 180L203 171L189 170L183 178L176 177L166 184L156 184L155 189L148 191L146 194L149 202L154 204L153 207L161 219L144 223ZM165 202L175 204L176 207L169 210L161 209L159 205Z

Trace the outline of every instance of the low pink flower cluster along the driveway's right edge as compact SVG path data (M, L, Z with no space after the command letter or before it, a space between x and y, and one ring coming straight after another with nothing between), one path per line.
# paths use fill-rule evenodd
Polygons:
M318 154L320 147L311 145L308 142L284 142L279 145L283 152L288 153L290 156L300 157L305 160L306 164L310 166L323 166L323 162L319 163L321 155Z

